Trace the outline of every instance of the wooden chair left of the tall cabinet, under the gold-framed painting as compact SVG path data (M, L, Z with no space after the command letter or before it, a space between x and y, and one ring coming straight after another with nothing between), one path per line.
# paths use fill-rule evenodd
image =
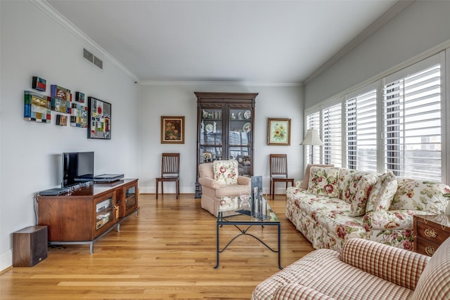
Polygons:
M164 195L164 182L174 181L176 188L176 199L180 195L180 154L162 153L161 176L156 178L156 199L158 199L158 186L161 183L161 195Z

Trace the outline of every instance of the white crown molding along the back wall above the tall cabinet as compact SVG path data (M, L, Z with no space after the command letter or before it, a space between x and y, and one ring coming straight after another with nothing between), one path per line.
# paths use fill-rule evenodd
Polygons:
M252 81L141 81L143 86L193 86L193 85L236 85L236 86L303 86L302 82L252 82Z

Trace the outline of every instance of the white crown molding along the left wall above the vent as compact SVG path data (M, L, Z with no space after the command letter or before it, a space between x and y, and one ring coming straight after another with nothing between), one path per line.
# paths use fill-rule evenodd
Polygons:
M84 34L82 30L79 30L77 26L75 26L67 18L65 18L58 11L56 11L56 9L53 8L50 4L48 4L45 0L29 0L29 1L35 6L37 6L39 9L41 9L41 11L46 13L46 15L49 15L49 17L55 20L59 25L63 26L65 30L73 34L75 37L77 37L77 39L82 41L83 44L85 44L86 46L90 46L91 48L94 48L95 52L100 53L99 56L102 56L103 58L108 60L110 63L115 65L115 67L117 67L125 74L128 74L136 81L139 81L138 77L135 74L133 74L133 72L131 72L127 67L122 65L122 63L120 63L117 59L111 56L110 53L105 51L105 49L103 49L100 45L98 45L93 39ZM80 51L80 53L82 53L82 51Z

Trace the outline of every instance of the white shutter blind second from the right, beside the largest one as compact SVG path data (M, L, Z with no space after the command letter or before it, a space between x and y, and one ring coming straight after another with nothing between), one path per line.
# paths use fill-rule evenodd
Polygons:
M347 168L377 171L377 90L345 101Z

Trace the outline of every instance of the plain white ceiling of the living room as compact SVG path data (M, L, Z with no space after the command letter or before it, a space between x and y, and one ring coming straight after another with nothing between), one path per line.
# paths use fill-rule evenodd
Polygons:
M286 84L364 39L397 0L46 2L141 82Z

